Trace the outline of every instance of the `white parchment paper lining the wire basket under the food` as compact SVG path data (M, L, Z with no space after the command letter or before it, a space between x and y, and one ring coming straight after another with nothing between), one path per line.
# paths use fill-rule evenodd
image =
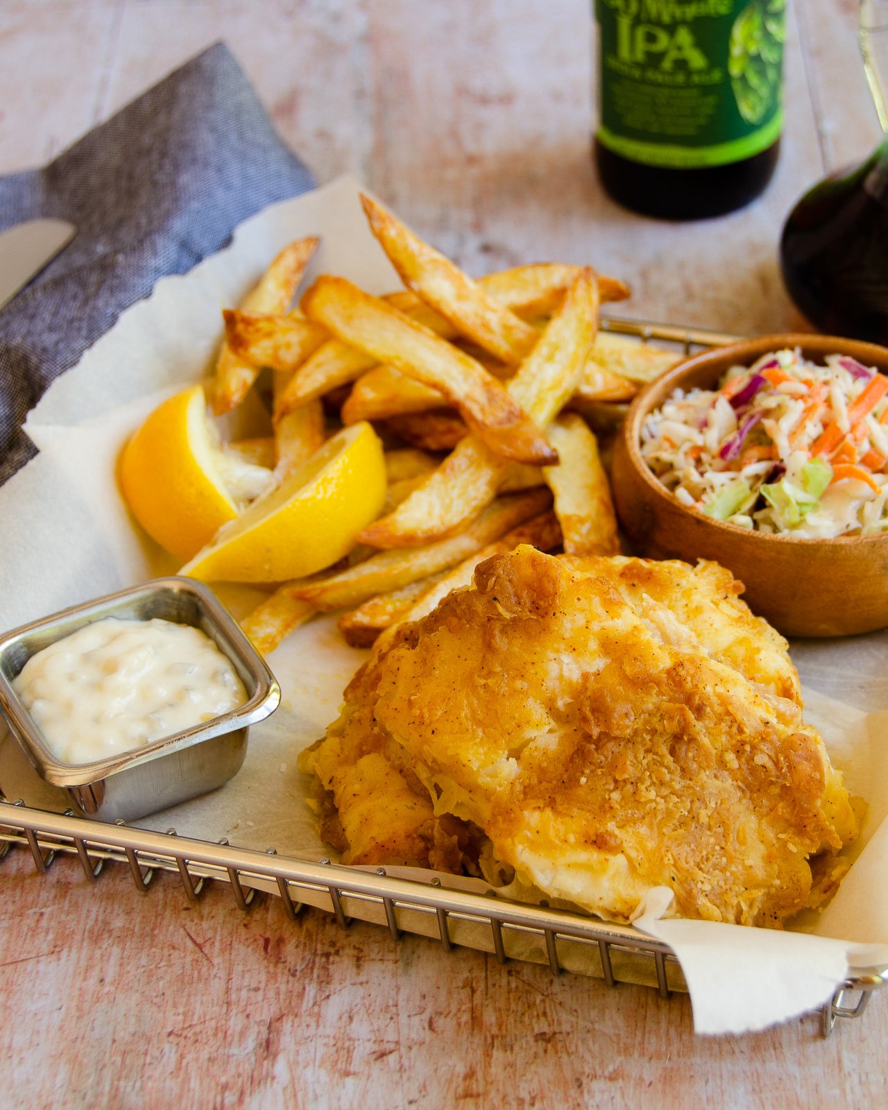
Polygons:
M163 396L204 375L220 341L220 310L239 302L284 243L319 233L323 242L309 279L334 272L371 292L397 287L366 229L356 182L341 178L266 209L239 229L230 248L159 282L30 413L26 431L40 454L0 488L0 627L176 569L127 512L114 480L119 451ZM262 596L249 587L220 594L235 615ZM800 917L785 932L659 920L667 898L656 891L636 921L679 957L700 1032L740 1032L794 1017L828 1000L849 966L888 962L887 647L879 634L807 643L794 655L807 679L807 718L851 791L869 804L857 860L826 911ZM306 859L329 855L296 755L337 715L342 689L363 657L343 644L332 618L291 635L270 658L282 706L251 731L242 770L222 789L138 824ZM34 787L9 737L0 745L0 786L31 805L67 807Z

